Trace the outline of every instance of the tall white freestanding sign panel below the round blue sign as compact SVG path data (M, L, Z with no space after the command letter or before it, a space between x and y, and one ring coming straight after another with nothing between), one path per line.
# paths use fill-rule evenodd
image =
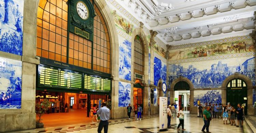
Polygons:
M167 97L159 97L159 131L167 131Z

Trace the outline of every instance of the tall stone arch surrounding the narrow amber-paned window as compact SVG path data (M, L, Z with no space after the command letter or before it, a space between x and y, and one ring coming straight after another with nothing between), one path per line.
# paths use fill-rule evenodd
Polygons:
M134 39L135 36L138 35L143 43L143 48L144 48L144 76L145 76L145 83L147 83L146 81L148 81L148 67L146 67L148 65L148 42L147 42L147 38L146 38L146 34L144 33L144 31L142 30L142 28L136 28L133 30L132 35L131 35L131 55L134 55ZM131 71L132 71L132 78L134 77L134 72L133 72L133 57L131 57Z

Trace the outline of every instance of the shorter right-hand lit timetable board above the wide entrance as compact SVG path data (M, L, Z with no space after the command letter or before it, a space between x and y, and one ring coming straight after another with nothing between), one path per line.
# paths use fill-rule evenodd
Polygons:
M110 91L111 79L96 75L84 74L84 88L96 91Z

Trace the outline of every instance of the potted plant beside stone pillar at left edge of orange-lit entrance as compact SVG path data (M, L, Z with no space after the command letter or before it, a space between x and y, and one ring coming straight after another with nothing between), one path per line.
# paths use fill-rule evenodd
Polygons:
M42 122L41 117L45 112L47 112L47 110L49 109L51 104L52 104L52 102L49 102L48 99L44 99L44 101L41 104L37 103L35 105L35 107L36 107L35 112L37 113L37 116L38 116L38 120L36 120L36 128L44 127L44 123Z

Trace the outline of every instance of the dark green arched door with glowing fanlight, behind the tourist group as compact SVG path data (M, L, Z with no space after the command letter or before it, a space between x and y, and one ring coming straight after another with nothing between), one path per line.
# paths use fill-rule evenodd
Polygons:
M237 104L244 104L244 114L247 115L247 84L243 79L232 79L227 84L227 104L237 107Z

